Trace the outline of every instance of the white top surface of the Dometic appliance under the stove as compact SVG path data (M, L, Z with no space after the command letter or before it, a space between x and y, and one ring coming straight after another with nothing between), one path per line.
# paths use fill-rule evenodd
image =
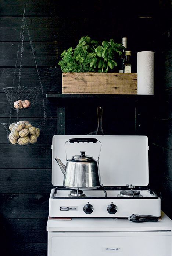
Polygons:
M162 221L135 223L128 220L112 218L72 218L71 221L48 220L47 231L83 231L83 232L116 232L116 231L156 231L172 230L172 221L161 212Z

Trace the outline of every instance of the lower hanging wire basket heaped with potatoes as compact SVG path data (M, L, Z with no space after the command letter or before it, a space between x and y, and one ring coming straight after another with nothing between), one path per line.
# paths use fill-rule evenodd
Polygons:
M11 145L33 145L39 141L42 126L45 122L18 121L14 123L2 123L7 132L7 139Z

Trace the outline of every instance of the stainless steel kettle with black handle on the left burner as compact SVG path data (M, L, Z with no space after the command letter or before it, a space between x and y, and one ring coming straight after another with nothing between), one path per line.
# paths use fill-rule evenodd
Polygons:
M98 140L94 138L76 138L69 139L67 142L93 142L96 143ZM98 141L100 142L100 141ZM101 142L100 142L101 145ZM101 146L100 146L101 151ZM66 149L65 149L66 153ZM64 174L63 186L70 189L94 189L100 187L101 179L99 172L99 157L98 160L93 159L93 156L85 155L85 151L81 151L80 155L73 156L72 159L67 160L66 154L66 166L61 162L60 159L55 158L62 173Z

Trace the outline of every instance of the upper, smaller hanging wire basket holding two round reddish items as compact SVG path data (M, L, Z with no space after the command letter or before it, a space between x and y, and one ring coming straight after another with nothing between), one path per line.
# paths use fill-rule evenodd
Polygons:
M3 88L7 99L13 109L25 110L34 107L37 104L38 95L41 93L41 87L20 87L18 96L18 87ZM18 100L19 97L19 100Z

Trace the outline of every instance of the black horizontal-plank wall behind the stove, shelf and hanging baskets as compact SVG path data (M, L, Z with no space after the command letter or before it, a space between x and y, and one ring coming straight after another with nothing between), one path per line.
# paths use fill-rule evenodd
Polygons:
M1 0L0 2L0 122L8 122L10 106L1 90L12 86L17 45L19 39L22 13L26 0ZM61 93L61 70L58 60L61 52L69 46L75 47L82 35L90 35L93 39L103 40L114 38L121 41L128 36L129 47L133 52L133 71L136 71L136 52L154 50L155 42L165 27L164 18L159 21L160 2L139 1L124 8L116 1L72 1L59 3L55 0L29 0L26 6L26 17L35 49L43 83L44 96L47 92ZM76 3L74 3L76 2ZM115 3L114 3L115 2ZM149 8L147 8L149 2ZM64 7L65 4L65 7ZM136 11L137 9L137 11ZM122 12L122 15L121 15ZM163 16L164 17L164 16ZM126 22L130 24L126 26ZM132 29L130 29L132 28ZM134 28L134 29L133 29ZM21 84L38 86L36 70L33 63L28 37L24 38L23 68ZM157 46L158 48L158 46ZM147 113L149 107L140 105L141 127L137 134L148 135L151 153L162 155L159 158L164 168L165 189L161 191L164 198L164 209L168 213L166 191L170 190L172 173L170 172L170 116L169 98L171 96L170 61L166 53L166 83L163 102L164 111L157 111L161 117L156 119L157 136L153 136L152 122ZM18 70L16 81L18 78ZM17 82L15 82L17 86ZM0 125L0 218L3 229L3 255L47 255L46 222L48 217L48 199L51 185L51 140L57 134L57 107L48 100L46 103L47 124L41 131L39 141L32 146L11 146L7 142L6 132ZM166 103L166 104L165 104ZM153 108L154 106L152 106ZM12 121L16 112L12 111ZM21 120L40 121L43 118L41 101L30 110L21 111ZM66 109L66 133L87 134L96 130L97 110L91 105L74 104ZM135 102L115 101L104 106L103 129L105 134L134 135ZM164 133L164 130L166 131ZM159 162L158 162L159 163ZM156 166L158 166L156 161ZM154 167L151 174L156 172ZM161 170L159 171L162 174ZM153 177L153 175L152 175ZM157 177L157 176L155 176ZM158 176L158 182L160 182ZM154 179L152 183L155 184ZM1 230L2 230L1 229Z

